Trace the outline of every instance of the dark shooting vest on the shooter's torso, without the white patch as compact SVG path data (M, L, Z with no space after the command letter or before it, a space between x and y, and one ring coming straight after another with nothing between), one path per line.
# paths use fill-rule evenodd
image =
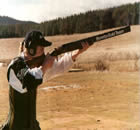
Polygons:
M18 72L21 68L26 66L26 63L22 58L15 59L8 68L8 79L9 70L17 62L19 64L21 63L21 66L19 68L13 67L13 69L16 69L15 72ZM22 66L23 63L25 66ZM32 80L30 82L32 82ZM36 87L33 89L29 89L26 93L20 93L9 86L10 107L8 119L0 130L40 130L39 123L36 120L37 86L38 84L36 84Z

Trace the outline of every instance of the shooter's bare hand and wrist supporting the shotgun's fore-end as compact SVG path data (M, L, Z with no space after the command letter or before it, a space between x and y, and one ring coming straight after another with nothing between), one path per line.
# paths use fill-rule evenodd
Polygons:
M74 55L72 55L72 60L75 61L77 56L83 52L85 52L89 48L89 44L87 42L81 43L82 44L82 49L79 49L78 52Z

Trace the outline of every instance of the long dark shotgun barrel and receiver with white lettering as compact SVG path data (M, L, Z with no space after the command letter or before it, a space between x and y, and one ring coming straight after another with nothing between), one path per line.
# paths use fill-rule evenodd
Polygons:
M116 30L113 30L113 31L109 31L109 32L106 32L106 33L102 33L102 34L99 34L99 35L95 35L95 36L92 36L92 37L81 39L81 40L78 40L78 41L66 43L66 44L63 44L62 46L58 47L57 49L54 49L54 51L52 51L50 55L51 56L58 56L58 55L60 55L62 53L65 53L65 52L70 52L70 51L73 51L73 50L82 49L81 43L83 43L83 42L87 42L89 45L92 45L95 42L105 40L105 39L108 39L108 38L111 38L111 37L115 37L115 36L130 32L130 31L131 31L130 26L126 26L126 27L122 27L120 29L116 29Z

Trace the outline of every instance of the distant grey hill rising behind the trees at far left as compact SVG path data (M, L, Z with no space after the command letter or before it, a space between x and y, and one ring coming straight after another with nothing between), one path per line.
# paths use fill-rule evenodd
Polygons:
M13 24L37 24L32 21L21 21L8 16L0 16L0 25L13 25Z

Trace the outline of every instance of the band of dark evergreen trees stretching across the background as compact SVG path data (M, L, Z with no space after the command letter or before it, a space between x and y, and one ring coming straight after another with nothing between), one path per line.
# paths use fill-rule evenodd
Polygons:
M45 36L87 33L125 25L137 25L140 22L139 19L140 2L136 2L107 9L90 10L40 24L0 25L0 38L24 37L33 29L40 30Z

